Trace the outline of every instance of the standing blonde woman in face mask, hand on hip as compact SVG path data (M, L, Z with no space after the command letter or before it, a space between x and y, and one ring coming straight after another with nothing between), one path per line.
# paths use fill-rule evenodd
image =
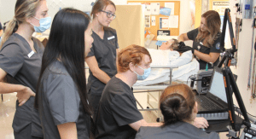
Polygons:
M44 137L38 111L33 107L44 45L32 33L44 32L50 24L45 0L17 0L15 16L3 33L0 94L17 92L15 139ZM16 84L6 83L6 78L12 78Z

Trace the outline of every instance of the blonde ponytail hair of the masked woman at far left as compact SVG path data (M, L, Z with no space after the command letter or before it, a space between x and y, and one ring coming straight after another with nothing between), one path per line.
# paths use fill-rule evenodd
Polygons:
M33 17L36 14L36 9L40 1L41 0L17 0L15 4L15 16L12 20L9 20L3 32L0 49L2 49L3 43L18 30L19 25L26 21L26 18Z

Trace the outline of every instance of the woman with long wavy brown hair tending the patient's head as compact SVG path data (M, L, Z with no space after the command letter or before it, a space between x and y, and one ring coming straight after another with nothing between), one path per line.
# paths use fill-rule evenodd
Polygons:
M178 37L179 41L193 40L192 53L199 61L200 69L218 65L220 54L220 17L217 11L209 10L201 15L201 25Z

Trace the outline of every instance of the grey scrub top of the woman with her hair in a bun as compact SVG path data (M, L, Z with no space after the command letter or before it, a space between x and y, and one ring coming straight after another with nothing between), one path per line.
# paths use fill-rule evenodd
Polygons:
M165 127L142 126L135 139L219 139L215 132L207 134L205 131L196 128L186 122L177 122Z

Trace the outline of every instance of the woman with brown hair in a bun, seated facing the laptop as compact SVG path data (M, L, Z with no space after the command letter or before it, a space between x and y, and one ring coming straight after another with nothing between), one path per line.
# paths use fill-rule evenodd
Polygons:
M198 112L197 102L195 94L186 84L168 86L160 96L160 110L164 125L141 127L136 139L219 139L217 133L207 134L193 125Z

